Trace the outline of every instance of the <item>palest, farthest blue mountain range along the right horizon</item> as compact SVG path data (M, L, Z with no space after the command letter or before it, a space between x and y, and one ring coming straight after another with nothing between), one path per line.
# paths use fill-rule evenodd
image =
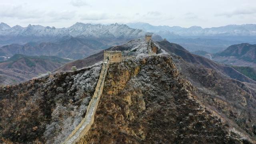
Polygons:
M256 36L256 24L227 25L214 28L202 28L191 26L182 28L180 26L153 26L148 23L128 23L131 28L138 28L145 32L170 32L178 36Z

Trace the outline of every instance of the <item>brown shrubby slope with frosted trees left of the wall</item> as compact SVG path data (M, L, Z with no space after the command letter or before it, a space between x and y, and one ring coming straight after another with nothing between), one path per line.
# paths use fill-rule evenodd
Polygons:
M0 87L0 143L62 142L85 116L100 68Z

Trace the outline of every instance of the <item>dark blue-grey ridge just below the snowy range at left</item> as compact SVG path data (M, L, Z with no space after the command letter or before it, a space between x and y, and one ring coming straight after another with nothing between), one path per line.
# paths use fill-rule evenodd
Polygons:
M58 56L61 58L81 59L110 47L102 42L111 40L87 38L85 36L65 36L56 42L30 42L24 45L10 44L0 47L0 56L25 54L30 56Z

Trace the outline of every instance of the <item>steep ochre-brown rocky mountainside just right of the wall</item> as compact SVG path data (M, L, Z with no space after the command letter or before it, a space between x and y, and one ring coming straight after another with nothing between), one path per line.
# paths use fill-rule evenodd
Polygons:
M86 143L246 143L200 103L170 57L110 66Z

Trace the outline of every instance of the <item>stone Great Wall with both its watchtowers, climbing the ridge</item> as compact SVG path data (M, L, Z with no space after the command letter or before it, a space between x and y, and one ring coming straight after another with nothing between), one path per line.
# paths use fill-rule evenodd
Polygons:
M151 48L151 36L146 35L146 42L147 42L147 49L148 49L148 55L155 55ZM100 77L98 79L94 94L92 96L92 99L90 100L90 103L86 110L86 115L76 126L76 128L72 131L72 133L66 138L62 144L76 144L90 129L94 122L94 116L98 107L98 104L100 102L100 96L103 91L104 82L106 78L106 74L108 72L108 68L110 64L116 63L116 62L122 62L122 60L126 59L126 57L122 58L122 52L121 51L104 51L104 60L102 63L102 69L100 72ZM127 58L129 59L129 57Z

